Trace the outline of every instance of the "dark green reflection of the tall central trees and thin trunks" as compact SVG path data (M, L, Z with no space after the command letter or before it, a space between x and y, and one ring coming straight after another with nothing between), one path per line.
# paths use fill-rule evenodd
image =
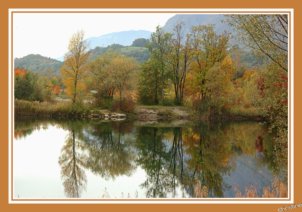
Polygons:
M137 132L137 163L146 171L146 197L177 197L183 185L181 128L140 127ZM167 139L165 136L173 136ZM172 141L172 145L171 142ZM171 195L171 196L168 196ZM182 194L182 197L185 193Z

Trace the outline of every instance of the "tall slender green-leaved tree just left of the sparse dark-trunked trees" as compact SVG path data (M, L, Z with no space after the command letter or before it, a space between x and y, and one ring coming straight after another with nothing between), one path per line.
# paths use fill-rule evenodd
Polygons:
M169 41L171 40L172 34L164 32L158 25L156 31L150 35L151 44L146 45L149 49L151 57L158 60L160 67L160 74L162 78L162 99L164 98L164 79L167 72L167 60L169 54Z

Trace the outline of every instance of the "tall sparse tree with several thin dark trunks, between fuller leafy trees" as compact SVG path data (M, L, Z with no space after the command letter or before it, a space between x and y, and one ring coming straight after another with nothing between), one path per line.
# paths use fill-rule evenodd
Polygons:
M185 80L188 74L188 67L191 63L191 51L188 37L183 40L184 22L178 22L174 26L174 35L170 40L168 63L172 69L172 82L174 84L175 98L181 103L184 96Z

